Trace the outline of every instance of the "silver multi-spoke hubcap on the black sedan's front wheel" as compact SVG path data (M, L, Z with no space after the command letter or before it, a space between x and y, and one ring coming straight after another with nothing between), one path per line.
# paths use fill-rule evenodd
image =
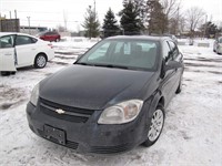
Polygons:
M157 110L153 113L153 117L151 120L148 138L151 142L154 142L159 137L162 127L163 127L163 112L161 110Z

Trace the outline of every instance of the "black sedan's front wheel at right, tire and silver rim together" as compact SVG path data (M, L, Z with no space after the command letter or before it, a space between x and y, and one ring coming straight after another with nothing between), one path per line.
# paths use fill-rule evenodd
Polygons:
M158 105L158 107L153 112L152 117L149 118L150 126L147 134L148 137L143 143L143 146L149 147L158 141L164 126L164 118L165 118L164 108L162 105Z

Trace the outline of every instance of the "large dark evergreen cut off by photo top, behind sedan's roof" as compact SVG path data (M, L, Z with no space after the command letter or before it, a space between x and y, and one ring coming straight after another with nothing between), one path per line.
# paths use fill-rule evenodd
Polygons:
M119 15L121 17L120 23L123 29L123 34L140 34L142 29L140 11L135 8L131 0L123 0L123 10L120 11Z

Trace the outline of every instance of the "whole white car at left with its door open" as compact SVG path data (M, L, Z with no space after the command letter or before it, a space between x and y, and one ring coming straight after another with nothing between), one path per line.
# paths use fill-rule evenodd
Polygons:
M42 69L54 58L50 42L23 33L0 32L0 72L14 73L18 68Z

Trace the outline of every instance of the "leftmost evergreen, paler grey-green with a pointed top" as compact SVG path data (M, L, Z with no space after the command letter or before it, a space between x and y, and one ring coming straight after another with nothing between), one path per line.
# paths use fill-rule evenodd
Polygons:
M87 9L82 27L85 29L85 37L91 39L100 35L100 22L97 13L92 11L91 6Z

